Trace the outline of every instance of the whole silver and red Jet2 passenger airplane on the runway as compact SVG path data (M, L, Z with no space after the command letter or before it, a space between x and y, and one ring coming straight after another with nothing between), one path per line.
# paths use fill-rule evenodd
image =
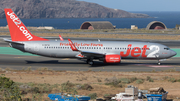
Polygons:
M150 42L136 41L80 41L49 40L31 34L23 22L10 9L5 8L5 15L11 35L4 39L13 48L23 52L53 58L85 59L90 65L94 60L104 63L120 63L122 59L160 60L168 59L177 53L169 47Z

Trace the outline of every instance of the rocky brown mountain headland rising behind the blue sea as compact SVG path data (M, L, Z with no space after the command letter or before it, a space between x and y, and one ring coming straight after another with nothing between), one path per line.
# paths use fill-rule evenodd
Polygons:
M134 14L76 0L0 0L0 8L0 18L5 18L4 8L12 8L20 18L26 19L149 17L146 14Z

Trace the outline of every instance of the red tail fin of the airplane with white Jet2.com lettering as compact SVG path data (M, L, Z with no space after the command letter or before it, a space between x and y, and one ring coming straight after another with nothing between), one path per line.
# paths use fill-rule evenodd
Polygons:
M12 41L48 41L37 37L26 28L17 15L10 9L4 9Z

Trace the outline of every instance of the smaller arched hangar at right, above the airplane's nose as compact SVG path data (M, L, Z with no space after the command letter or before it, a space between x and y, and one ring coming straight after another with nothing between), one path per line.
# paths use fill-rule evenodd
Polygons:
M152 21L147 25L146 29L167 29L167 27L164 23L160 21Z

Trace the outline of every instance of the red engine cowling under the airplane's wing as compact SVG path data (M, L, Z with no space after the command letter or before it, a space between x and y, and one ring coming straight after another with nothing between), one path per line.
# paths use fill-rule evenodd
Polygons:
M104 63L120 63L121 56L118 54L105 55Z

